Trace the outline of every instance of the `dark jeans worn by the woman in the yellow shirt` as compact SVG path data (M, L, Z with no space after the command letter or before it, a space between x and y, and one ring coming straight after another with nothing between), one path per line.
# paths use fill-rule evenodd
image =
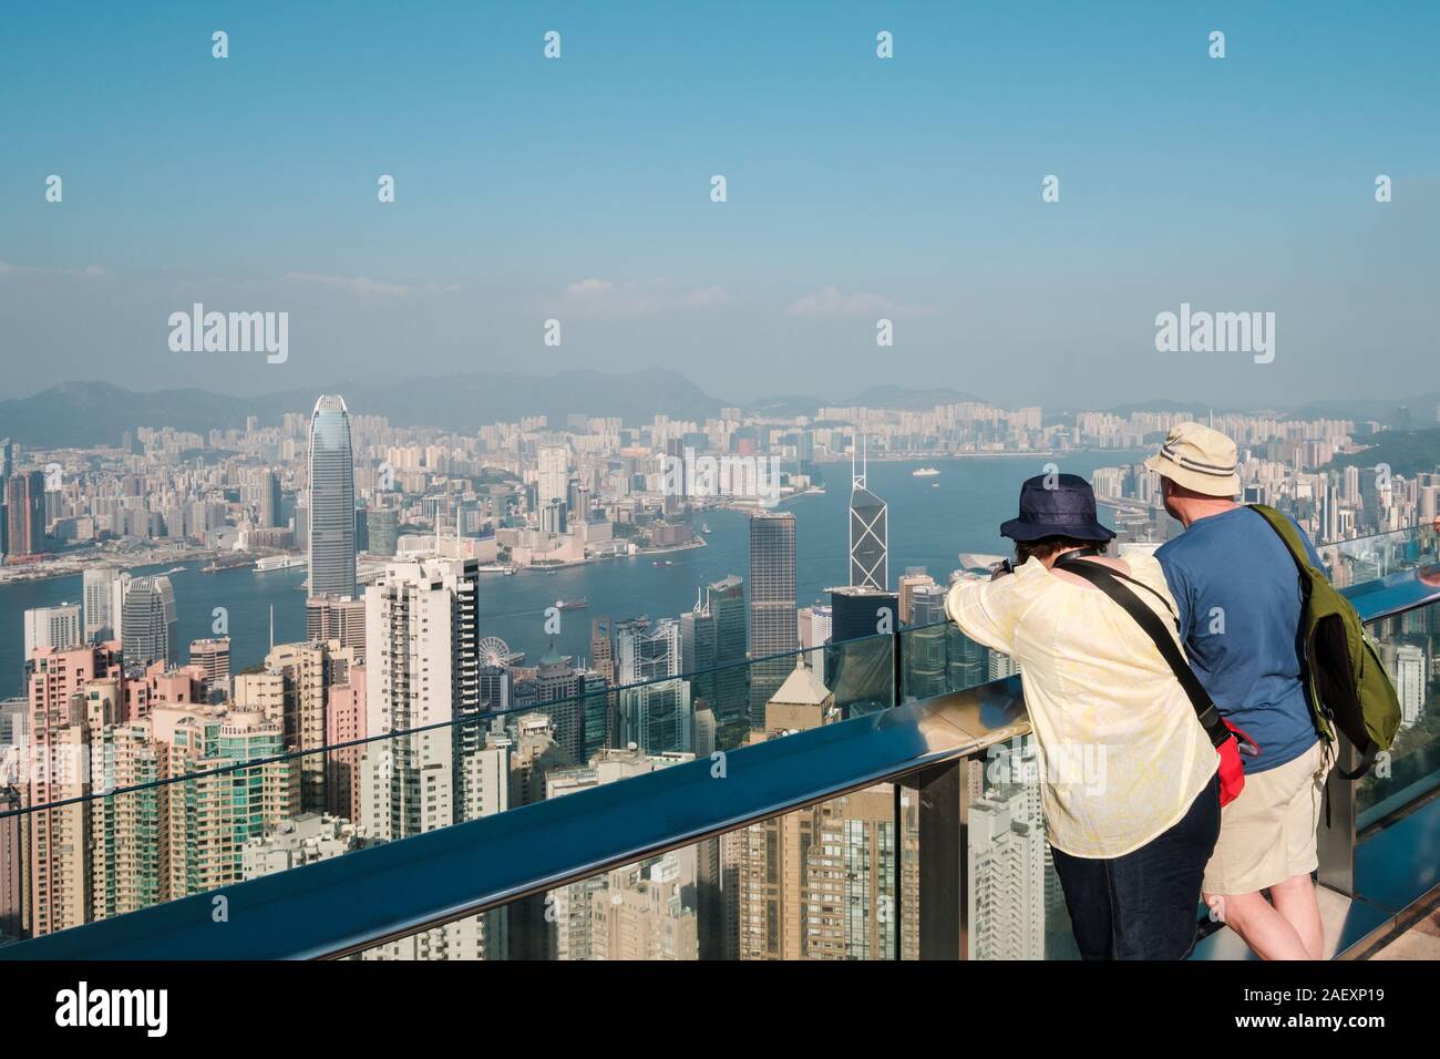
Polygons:
M1084 960L1185 960L1195 947L1200 883L1220 837L1220 777L1178 824L1123 857L1053 850Z

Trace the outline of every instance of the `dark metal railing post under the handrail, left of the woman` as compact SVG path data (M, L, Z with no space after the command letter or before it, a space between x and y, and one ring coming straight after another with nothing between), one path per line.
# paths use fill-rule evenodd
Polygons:
M903 779L920 800L920 901L907 915L919 916L922 960L965 960L968 955L965 769L966 759L960 758Z

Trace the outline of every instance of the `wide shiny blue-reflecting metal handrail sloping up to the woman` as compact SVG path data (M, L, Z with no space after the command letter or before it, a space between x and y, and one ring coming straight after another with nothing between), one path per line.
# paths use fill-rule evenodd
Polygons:
M1028 730L1020 680L1007 677L99 919L0 958L344 957Z

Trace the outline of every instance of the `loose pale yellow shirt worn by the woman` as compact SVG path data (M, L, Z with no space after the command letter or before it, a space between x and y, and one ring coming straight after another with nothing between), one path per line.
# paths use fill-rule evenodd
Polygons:
M1125 562L1175 605L1153 556ZM1159 599L1128 588L1174 630ZM1030 559L998 581L958 582L945 609L968 637L1020 663L1056 849L1076 857L1132 853L1179 823L1220 768L1159 650L1099 589Z

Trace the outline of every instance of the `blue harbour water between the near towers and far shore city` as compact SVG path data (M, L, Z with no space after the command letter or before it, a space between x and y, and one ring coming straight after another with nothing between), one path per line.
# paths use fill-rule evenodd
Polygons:
M890 506L890 584L907 566L923 566L942 584L960 552L1008 552L996 533L1015 514L1020 483L1044 474L1047 463L1063 471L1090 477L1096 467L1130 461L1125 452L1073 452L1043 455L968 457L871 463L870 488ZM914 477L919 467L935 467L935 477ZM850 464L822 467L827 493L786 501L796 522L798 605L827 598L827 589L848 579ZM1106 519L1107 514L1102 513ZM677 617L694 607L696 591L729 573L749 578L749 519L742 511L714 510L696 517L707 523L707 546L668 552L668 566L649 556L612 559L554 572L526 571L514 576L481 575L481 634L504 640L534 663L552 637L544 631L544 611L560 599L589 599L589 605L560 614L560 634L553 637L562 654L589 656L590 621L609 615L621 621L638 615ZM305 569L256 572L251 566L202 573L200 562L184 563L171 575L176 591L179 650L183 661L192 640L216 635L215 608L225 608L230 635L232 670L265 658L269 647L271 605L275 608L275 643L305 635ZM164 573L171 563L138 568L135 573ZM53 607L81 599L81 578L52 578L0 586L0 697L22 693L24 622L30 607Z

